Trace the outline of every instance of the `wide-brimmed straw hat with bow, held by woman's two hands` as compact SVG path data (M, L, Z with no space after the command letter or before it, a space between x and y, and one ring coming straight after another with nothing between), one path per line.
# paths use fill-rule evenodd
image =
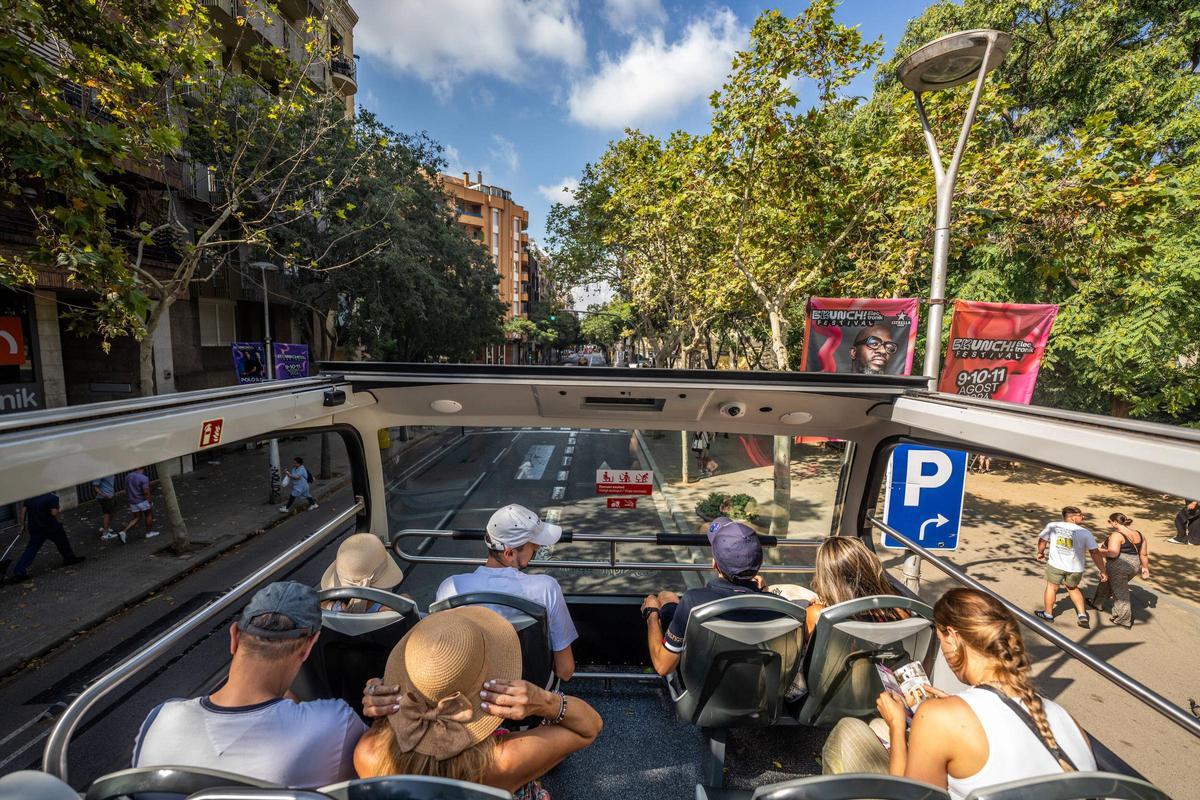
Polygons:
M500 724L485 714L485 680L521 678L521 643L506 619L482 606L430 614L388 657L383 682L400 686L400 710L388 717L403 752L438 760L479 744Z

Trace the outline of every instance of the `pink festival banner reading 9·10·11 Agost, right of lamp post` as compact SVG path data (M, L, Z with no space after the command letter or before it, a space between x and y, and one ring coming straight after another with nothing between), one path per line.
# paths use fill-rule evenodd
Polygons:
M937 390L1028 404L1058 306L955 300Z

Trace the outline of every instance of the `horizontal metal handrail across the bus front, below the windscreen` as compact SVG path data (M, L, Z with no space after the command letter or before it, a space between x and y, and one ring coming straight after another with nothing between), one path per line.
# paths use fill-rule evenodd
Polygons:
M409 553L400 546L403 539L421 537L421 549L427 549L437 539L452 539L457 541L482 541L482 530L438 530L422 528L406 528L397 533L391 541L392 552L398 558L412 564L443 564L451 566L482 566L487 559L462 558L456 555L424 555L422 553ZM775 540L763 536L764 547L820 547L824 539L820 540ZM703 540L703 541L692 541ZM563 536L563 543L584 542L608 545L608 559L606 561L586 560L541 560L529 561L532 567L546 570L641 570L646 572L703 572L712 570L708 564L685 564L683 561L618 561L618 545L656 545L661 547L708 547L708 541L703 536L683 536L678 534L666 536L612 536L608 534L571 534L570 539ZM816 567L806 564L763 564L758 572L785 572L790 575L815 572Z

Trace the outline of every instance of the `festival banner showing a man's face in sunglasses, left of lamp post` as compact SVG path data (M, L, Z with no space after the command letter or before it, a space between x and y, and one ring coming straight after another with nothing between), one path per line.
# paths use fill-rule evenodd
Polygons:
M916 297L809 297L800 369L907 375L916 343Z

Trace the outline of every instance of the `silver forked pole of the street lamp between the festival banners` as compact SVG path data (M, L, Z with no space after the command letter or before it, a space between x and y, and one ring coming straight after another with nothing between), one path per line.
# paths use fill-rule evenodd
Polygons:
M954 154L950 156L950 166L942 168L942 155L937 149L937 139L934 138L934 130L929 125L925 115L925 104L920 102L920 92L913 91L917 100L917 115L920 118L920 128L925 134L925 148L929 157L934 161L934 176L937 181L937 210L934 217L934 273L929 282L929 318L925 326L925 377L929 378L929 391L937 391L937 372L942 363L942 319L946 314L946 265L950 258L950 205L954 201L954 181L959 176L959 164L962 163L962 154L967 149L967 136L974 124L976 110L979 108L979 97L983 95L983 84L988 79L988 64L991 61L991 50L996 46L996 37L988 36L988 49L984 50L983 61L979 64L979 74L976 77L974 91L971 94L971 104L967 106L967 116L962 120L962 128L959 131L959 140L954 145ZM904 583L911 591L920 590L920 555L910 552L904 561Z

